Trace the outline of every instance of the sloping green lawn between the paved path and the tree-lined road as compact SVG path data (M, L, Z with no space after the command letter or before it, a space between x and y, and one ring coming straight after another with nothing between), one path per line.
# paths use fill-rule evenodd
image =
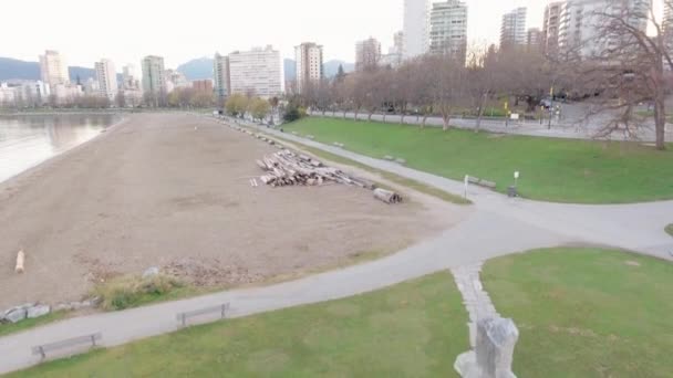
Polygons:
M673 199L673 145L667 151L630 143L600 143L442 132L398 124L309 117L283 126L331 145L463 180L465 175L498 183L505 192L521 172L524 197L557 202L620 203Z

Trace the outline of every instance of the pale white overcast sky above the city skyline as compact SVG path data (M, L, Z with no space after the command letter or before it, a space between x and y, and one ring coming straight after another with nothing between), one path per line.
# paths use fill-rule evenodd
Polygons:
M661 1L661 0L656 0ZM548 0L466 0L469 43L497 42L503 13L528 7L541 27ZM101 4L108 8L102 8ZM168 67L195 57L272 44L286 57L303 41L324 45L325 61L354 60L354 43L374 36L387 51L402 30L403 0L3 0L0 56L37 61L45 49L70 65L112 59L117 71L144 55Z

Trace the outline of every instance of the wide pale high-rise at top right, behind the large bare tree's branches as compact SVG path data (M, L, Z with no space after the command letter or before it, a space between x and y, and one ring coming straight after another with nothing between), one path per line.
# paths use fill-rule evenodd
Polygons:
M604 14L625 14L628 24L646 32L651 7L652 0L568 0L561 12L559 51L570 57L600 56L620 43L615 38L630 38L605 35L601 29Z

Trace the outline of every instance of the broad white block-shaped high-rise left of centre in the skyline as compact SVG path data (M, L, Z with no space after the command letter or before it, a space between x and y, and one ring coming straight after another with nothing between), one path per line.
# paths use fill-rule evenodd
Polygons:
M278 96L284 91L280 52L271 45L232 52L229 54L229 77L232 94Z

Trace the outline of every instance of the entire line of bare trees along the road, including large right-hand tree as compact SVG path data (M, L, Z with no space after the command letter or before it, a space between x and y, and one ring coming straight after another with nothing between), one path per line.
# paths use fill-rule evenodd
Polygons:
M673 0L665 0L673 14ZM526 113L540 109L547 96L580 99L587 104L587 117L603 115L597 136L620 132L636 137L643 127L642 117L634 112L638 104L654 108L656 147L665 148L665 96L671 91L673 70L673 28L667 31L652 9L615 4L597 11L598 35L593 45L603 46L587 54L582 43L568 49L562 56L546 56L526 49L495 46L472 49L467 64L449 55L426 55L392 67L377 67L340 74L307 85L298 101L322 113L366 113L369 119L382 113L410 114L423 117L441 116L448 129L456 114L476 117L478 132L489 104L504 108L524 105ZM669 20L673 25L673 20ZM655 30L649 34L643 24ZM667 43L669 42L669 43ZM507 112L506 112L507 114Z

